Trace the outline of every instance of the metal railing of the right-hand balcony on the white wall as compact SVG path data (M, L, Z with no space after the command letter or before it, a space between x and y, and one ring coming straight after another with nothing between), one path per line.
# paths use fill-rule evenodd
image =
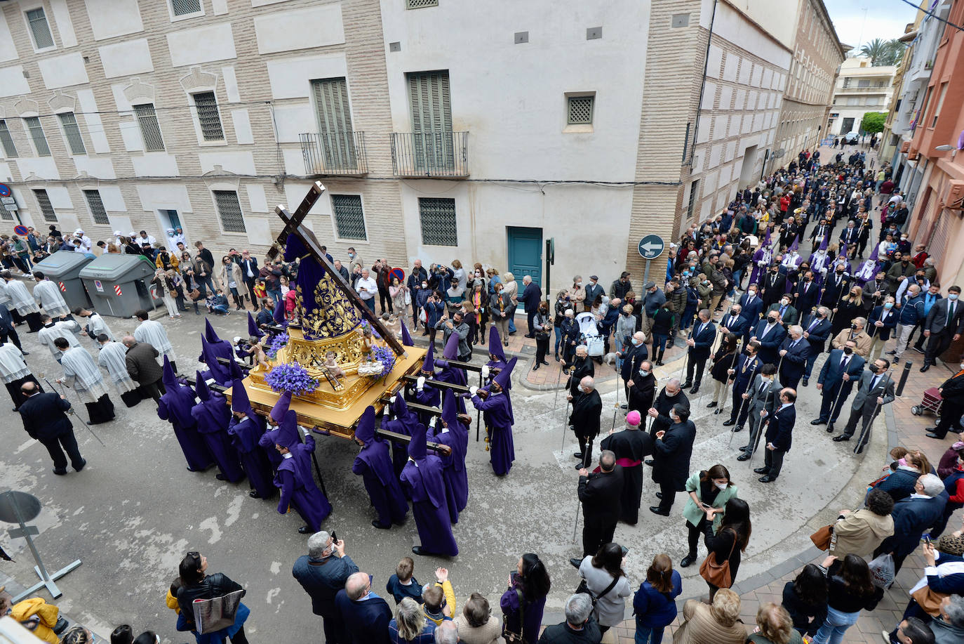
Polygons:
M395 177L468 177L469 132L392 132Z

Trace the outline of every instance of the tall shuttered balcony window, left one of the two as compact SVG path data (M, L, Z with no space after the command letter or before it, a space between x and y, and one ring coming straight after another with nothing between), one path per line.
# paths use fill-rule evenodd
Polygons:
M343 77L312 80L311 92L325 168L330 172L353 171L358 167L358 152L352 136L348 84Z

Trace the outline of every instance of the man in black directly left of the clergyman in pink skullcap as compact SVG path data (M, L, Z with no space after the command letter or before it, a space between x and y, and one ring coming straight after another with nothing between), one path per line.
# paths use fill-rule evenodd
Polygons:
M603 544L612 542L619 520L623 492L623 468L609 450L600 453L600 471L579 469L579 502L582 503L582 556L595 555ZM578 559L575 566L578 566ZM572 560L570 560L572 563Z

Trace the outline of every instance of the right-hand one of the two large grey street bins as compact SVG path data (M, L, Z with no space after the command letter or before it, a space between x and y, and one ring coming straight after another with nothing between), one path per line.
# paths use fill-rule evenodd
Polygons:
M56 253L59 255L59 253ZM141 255L101 255L80 271L94 310L102 316L130 318L161 300L150 280L156 266Z

